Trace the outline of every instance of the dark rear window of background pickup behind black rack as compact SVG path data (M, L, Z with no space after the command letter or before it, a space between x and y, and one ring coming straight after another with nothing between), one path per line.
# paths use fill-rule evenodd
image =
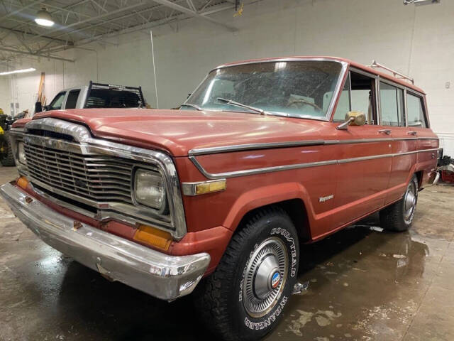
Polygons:
M93 89L86 108L137 108L140 97L129 91Z

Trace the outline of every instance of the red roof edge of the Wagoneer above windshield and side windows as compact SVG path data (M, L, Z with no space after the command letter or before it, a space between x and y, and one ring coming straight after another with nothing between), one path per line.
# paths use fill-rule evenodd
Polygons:
M346 58L331 57L331 56L324 56L324 55L297 55L297 56L287 56L287 57L278 57L278 58L258 58L258 59L250 59L250 60L240 60L238 62L219 65L218 67L215 68L215 70L218 68L221 68L221 67L229 67L229 66L233 66L233 65L274 62L274 61L286 61L286 60L287 61L292 61L292 60L333 60L333 61L343 62L343 63L347 63L349 66L356 67L360 70L367 71L374 75L379 75L382 78L391 80L392 82L395 82L404 87L408 87L409 89L414 90L416 92L420 92L421 94L426 94L426 92L424 92L420 87L416 87L415 85L411 84L410 82L408 82L406 80L402 80L401 78L394 77L393 75L390 75L389 73L382 72L375 68L368 67L366 65L362 65L360 63L354 62L353 60L349 60Z

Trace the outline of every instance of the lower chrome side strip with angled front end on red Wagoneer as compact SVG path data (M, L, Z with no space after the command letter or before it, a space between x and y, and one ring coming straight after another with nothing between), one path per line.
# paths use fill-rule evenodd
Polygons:
M292 169L301 169L301 168L311 168L311 167L319 167L319 166L328 166L334 164L342 164L342 163L350 163L350 162L358 162L358 161L367 161L367 160L374 160L377 158L391 158L397 156L404 156L414 153L423 153L427 151L438 151L438 148L431 148L431 149L421 149L419 151L407 151L404 153L389 153L389 154L380 154L380 155L373 155L373 156L361 156L359 158L343 158L338 160L327 160L327 161L318 161L318 162L309 162L309 163L296 163L292 165L283 165L283 166L272 166L272 167L265 167L265 168L253 168L247 169L243 171L231 171L231 172L224 172L224 173L209 173L207 172L203 166L197 161L195 156L189 156L189 160L194 163L194 166L206 177L212 180L218 180L222 178L236 178L238 176L246 176L246 175L257 175L262 173L272 173L272 172L279 172L279 171L289 171Z

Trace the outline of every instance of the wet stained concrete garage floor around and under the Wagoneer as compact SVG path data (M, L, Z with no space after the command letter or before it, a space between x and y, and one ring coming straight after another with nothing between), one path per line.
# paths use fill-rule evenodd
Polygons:
M0 168L0 183L15 168ZM414 227L377 216L301 251L300 281L267 340L454 340L454 188L420 193ZM165 303L48 247L0 200L0 340L212 340L190 298Z

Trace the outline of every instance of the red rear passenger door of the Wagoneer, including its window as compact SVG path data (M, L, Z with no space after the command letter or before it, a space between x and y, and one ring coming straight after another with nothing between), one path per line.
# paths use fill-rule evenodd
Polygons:
M380 118L384 129L389 129L391 144L391 173L385 204L399 200L416 163L416 136L406 127L405 88L389 80L380 79Z

